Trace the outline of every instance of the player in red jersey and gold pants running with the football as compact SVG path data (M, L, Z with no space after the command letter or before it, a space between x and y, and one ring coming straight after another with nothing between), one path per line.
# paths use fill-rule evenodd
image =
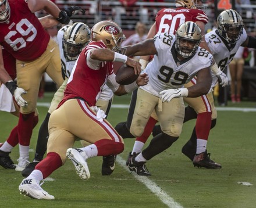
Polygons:
M121 53L124 39L122 29L112 21L101 21L91 29L91 42L81 51L67 81L64 98L49 118L47 157L19 186L24 195L35 199L54 199L39 185L53 171L61 167L66 156L72 160L83 180L90 178L86 160L95 156L118 155L124 149L123 139L95 107L98 96L108 85L115 95L133 91L148 83L147 74L140 74L129 85L116 83L113 62L123 62L140 73L140 63ZM90 142L84 148L72 148L76 138Z

